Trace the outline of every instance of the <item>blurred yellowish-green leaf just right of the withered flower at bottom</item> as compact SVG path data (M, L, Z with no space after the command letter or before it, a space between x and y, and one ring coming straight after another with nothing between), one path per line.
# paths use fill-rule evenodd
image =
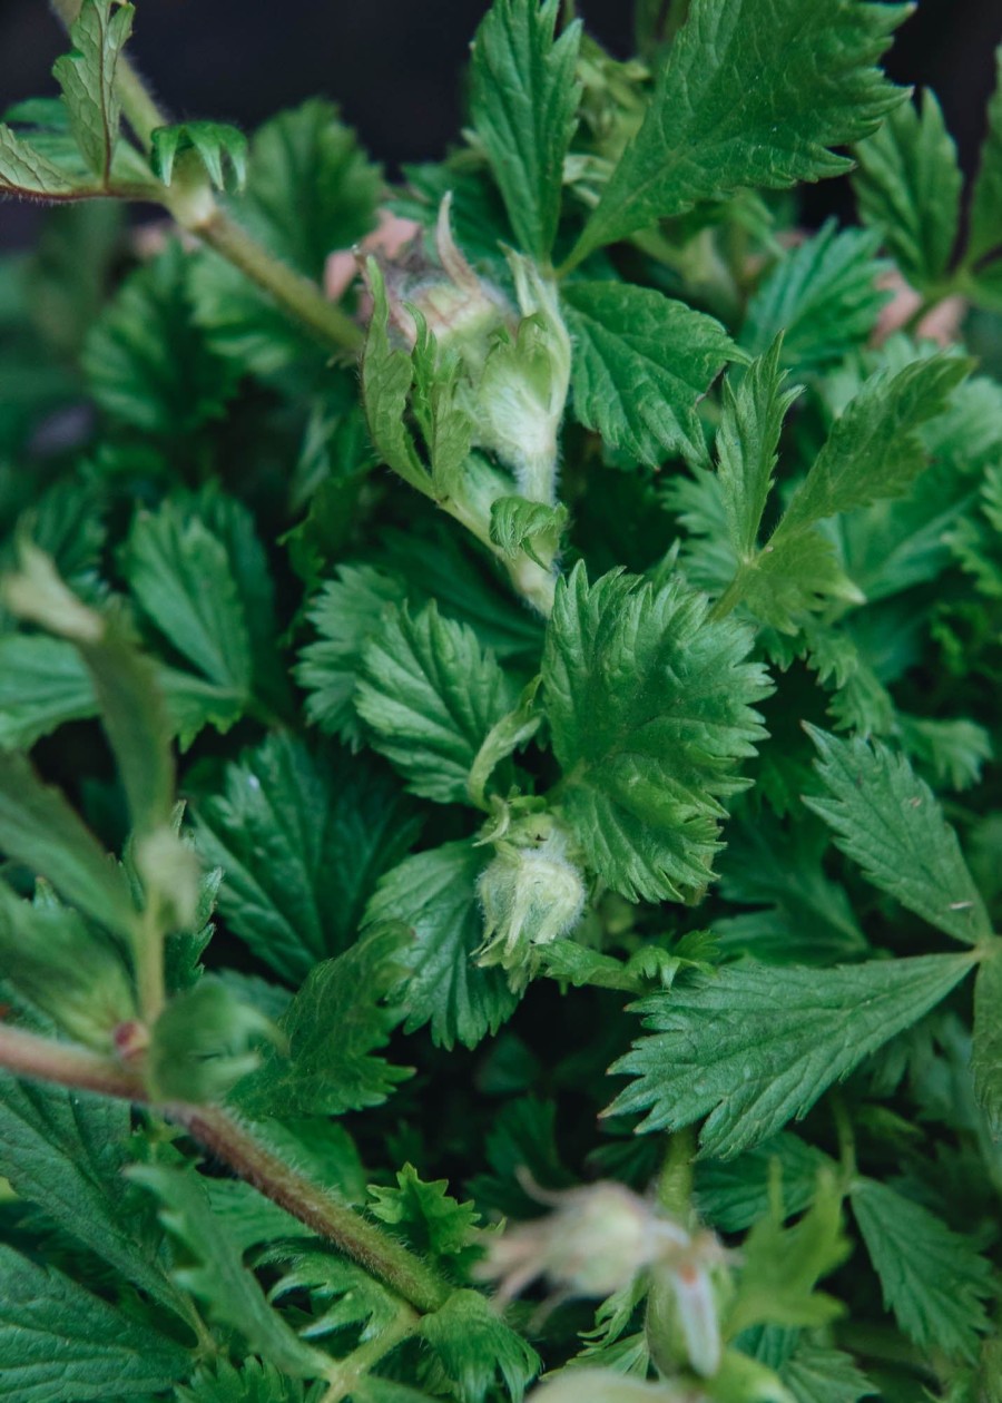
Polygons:
M773 1163L769 1212L741 1246L741 1277L727 1313L728 1336L755 1324L821 1326L842 1312L841 1302L814 1289L852 1250L842 1232L842 1190L836 1176L821 1172L811 1207L786 1228L777 1170Z

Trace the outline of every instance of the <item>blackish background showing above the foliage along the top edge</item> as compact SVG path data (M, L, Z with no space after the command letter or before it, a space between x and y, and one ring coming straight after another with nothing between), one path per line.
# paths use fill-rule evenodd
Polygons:
M815 0L827 4L828 0ZM131 53L174 116L244 128L313 94L335 98L390 174L435 159L460 122L462 74L487 0L136 0ZM630 49L630 0L580 0L591 32ZM919 0L888 70L932 87L970 170L1002 43L1002 0ZM45 0L0 0L0 109L53 91L63 36ZM839 208L831 182L810 201ZM0 244L31 237L35 212L0 205Z

